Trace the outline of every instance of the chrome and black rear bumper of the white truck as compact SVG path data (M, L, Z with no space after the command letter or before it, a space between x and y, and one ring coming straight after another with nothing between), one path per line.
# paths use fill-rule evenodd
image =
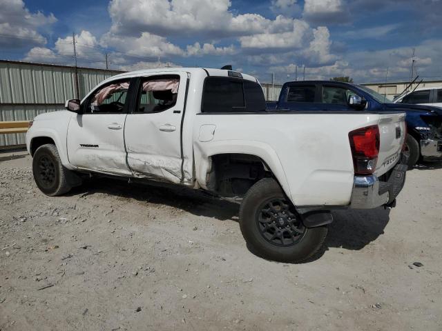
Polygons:
M404 160L402 162L405 163ZM388 174L383 175L382 181L374 174L355 176L349 208L372 209L393 203L405 183L407 165L403 163L396 164Z

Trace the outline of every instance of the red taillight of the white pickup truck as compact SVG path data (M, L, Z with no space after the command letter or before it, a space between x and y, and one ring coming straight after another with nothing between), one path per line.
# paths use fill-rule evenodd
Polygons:
M379 128L367 126L348 134L352 148L354 173L372 174L376 170L379 154Z

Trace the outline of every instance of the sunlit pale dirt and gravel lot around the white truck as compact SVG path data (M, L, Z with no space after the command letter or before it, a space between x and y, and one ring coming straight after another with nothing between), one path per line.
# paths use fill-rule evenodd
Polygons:
M302 265L251 254L238 206L199 192L46 197L25 152L0 154L0 205L0 330L442 330L441 163L391 211L335 212Z

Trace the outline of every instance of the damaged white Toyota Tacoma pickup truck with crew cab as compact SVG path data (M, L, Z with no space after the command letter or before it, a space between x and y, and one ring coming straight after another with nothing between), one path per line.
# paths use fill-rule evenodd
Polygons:
M208 190L242 203L244 239L276 261L311 258L332 210L392 207L405 181L402 112L267 111L258 80L231 70L118 74L66 109L28 130L42 192L90 174Z

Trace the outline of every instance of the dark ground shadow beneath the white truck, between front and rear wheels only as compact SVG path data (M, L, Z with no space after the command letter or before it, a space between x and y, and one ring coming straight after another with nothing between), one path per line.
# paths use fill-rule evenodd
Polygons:
M183 188L162 183L127 183L118 179L97 178L70 191L67 196L87 197L95 193L104 193L117 197L120 201L131 199L153 205L185 210L196 216L214 217L220 221L232 219L238 221L240 205L217 199L212 195L191 188Z

